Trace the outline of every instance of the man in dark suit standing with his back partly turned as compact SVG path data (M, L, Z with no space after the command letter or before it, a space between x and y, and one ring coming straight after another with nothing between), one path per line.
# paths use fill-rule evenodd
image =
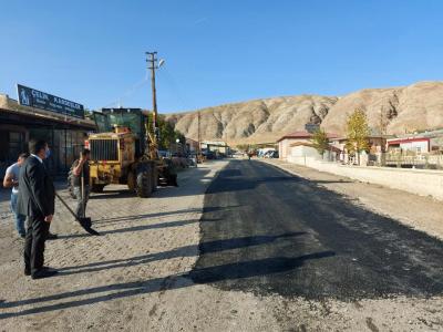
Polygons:
M48 153L47 142L30 141L29 152L31 155L20 170L18 210L28 216L24 274L41 279L56 273L43 267L44 242L54 215L55 189L43 164Z

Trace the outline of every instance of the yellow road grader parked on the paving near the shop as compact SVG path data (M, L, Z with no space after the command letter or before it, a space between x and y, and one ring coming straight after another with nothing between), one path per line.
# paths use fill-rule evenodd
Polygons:
M157 185L173 184L171 164L158 158L156 138L141 108L103 108L94 112L97 133L90 134L91 191L106 185L127 185L140 197L150 197Z

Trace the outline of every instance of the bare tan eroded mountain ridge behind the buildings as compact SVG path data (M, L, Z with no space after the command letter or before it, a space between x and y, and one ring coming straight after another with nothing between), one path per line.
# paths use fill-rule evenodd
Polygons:
M343 135L347 116L357 107L367 112L374 132L381 127L388 134L443 127L443 82L365 89L340 97L299 95L256 100L167 114L166 120L185 136L197 139L199 112L203 139L268 143L303 129L307 123Z

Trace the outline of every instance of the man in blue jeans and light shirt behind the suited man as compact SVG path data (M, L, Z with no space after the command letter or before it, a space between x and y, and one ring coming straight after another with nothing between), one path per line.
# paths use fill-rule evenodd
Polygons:
M17 210L17 199L19 197L19 175L20 167L24 160L29 157L29 154L21 154L16 164L8 167L3 179L4 188L12 188L11 190L11 209L16 217L16 229L19 236L24 239L27 231L24 228L24 220L27 216L20 215Z

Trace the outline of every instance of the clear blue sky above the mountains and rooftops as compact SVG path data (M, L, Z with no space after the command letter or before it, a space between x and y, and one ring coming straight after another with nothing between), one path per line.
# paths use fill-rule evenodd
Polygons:
M0 93L158 110L443 77L443 1L0 0Z

